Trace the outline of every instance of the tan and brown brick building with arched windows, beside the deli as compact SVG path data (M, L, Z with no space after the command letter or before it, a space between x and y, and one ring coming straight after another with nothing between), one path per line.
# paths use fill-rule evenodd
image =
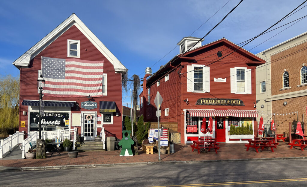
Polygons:
M289 137L292 129L294 135L298 121L302 122L304 131L307 109L307 32L264 50L257 56L266 60L266 64L256 73L257 109L267 121L276 121L277 134Z

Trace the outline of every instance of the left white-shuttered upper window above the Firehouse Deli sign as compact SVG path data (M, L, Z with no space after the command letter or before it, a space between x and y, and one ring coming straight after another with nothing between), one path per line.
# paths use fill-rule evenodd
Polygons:
M210 67L199 64L187 66L187 91L210 92Z

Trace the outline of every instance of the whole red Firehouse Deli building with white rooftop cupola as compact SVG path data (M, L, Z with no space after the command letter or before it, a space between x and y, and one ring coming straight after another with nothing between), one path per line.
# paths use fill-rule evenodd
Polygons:
M257 134L255 68L265 61L225 38L204 46L202 41L185 37L177 44L180 54L156 73L146 69L140 114L144 121L157 122L154 99L159 91L160 122L177 123L181 143L204 136L218 142L247 142ZM210 117L213 131L202 133L202 121L206 119L208 128ZM253 125L254 135L229 135L231 125L247 124Z

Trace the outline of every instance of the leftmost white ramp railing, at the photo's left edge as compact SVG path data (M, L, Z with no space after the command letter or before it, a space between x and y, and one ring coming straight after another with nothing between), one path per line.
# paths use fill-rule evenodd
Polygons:
M21 144L23 140L24 131L16 131L13 135L10 135L4 140L0 140L0 159L3 155L11 151L16 145Z

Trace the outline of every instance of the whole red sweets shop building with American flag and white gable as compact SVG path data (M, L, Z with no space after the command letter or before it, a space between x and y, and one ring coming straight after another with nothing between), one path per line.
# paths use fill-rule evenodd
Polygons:
M105 127L107 136L122 138L127 69L74 13L13 64L20 70L19 131L38 130L42 75L42 130L77 127L79 135L92 140Z

